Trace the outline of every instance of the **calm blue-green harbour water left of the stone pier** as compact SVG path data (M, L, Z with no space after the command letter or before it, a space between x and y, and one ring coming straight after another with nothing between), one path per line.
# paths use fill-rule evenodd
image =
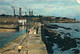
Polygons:
M3 47L9 41L15 39L17 36L23 34L25 31L26 27L21 26L19 27L19 31L0 33L0 48Z

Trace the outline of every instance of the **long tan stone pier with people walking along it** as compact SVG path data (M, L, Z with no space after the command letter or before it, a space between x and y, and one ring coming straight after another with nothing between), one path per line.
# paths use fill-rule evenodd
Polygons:
M32 33L32 34L31 34ZM18 46L22 46L18 53ZM30 31L29 34L22 34L15 40L0 49L1 54L47 54L47 49L41 38L41 26L38 27L38 34Z

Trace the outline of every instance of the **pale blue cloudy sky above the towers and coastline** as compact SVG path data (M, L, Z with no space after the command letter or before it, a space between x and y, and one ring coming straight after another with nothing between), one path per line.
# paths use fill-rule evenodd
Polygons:
M80 0L0 0L0 14L13 15L12 6L19 14L34 11L34 15L69 17L80 20Z

